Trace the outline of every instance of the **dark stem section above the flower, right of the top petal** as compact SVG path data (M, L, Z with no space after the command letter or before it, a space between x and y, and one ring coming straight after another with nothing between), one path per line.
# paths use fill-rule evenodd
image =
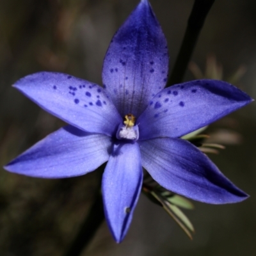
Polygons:
M214 0L195 0L177 60L166 86L182 82L205 18L213 3Z

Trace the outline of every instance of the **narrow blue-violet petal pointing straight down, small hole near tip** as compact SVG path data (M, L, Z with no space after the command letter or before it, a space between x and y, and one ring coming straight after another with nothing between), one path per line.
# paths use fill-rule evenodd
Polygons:
M115 145L102 178L104 210L109 229L120 243L129 228L142 184L137 143Z

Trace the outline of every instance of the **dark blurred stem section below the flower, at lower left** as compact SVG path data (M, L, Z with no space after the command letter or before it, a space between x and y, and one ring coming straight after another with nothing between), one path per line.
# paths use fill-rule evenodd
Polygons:
M98 192L88 216L86 216L84 223L81 224L81 228L65 256L80 255L88 243L90 243L95 232L97 232L103 221L104 209L102 204L102 196Z

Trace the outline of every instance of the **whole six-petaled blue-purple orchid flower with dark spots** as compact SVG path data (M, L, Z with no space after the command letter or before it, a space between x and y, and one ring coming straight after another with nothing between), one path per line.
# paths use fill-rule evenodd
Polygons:
M180 137L252 99L223 81L202 79L164 88L168 49L150 4L141 0L113 36L103 88L67 74L39 72L14 87L69 125L8 163L10 172L65 178L102 176L104 212L116 242L132 220L143 168L163 188L209 204L248 197L194 145Z

